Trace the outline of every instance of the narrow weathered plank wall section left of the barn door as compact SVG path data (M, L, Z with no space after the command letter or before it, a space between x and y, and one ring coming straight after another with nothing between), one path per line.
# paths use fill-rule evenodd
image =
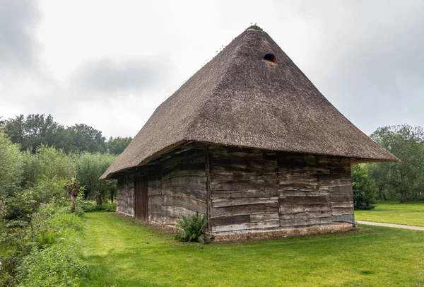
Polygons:
M123 175L118 180L117 212L134 216L134 174Z

